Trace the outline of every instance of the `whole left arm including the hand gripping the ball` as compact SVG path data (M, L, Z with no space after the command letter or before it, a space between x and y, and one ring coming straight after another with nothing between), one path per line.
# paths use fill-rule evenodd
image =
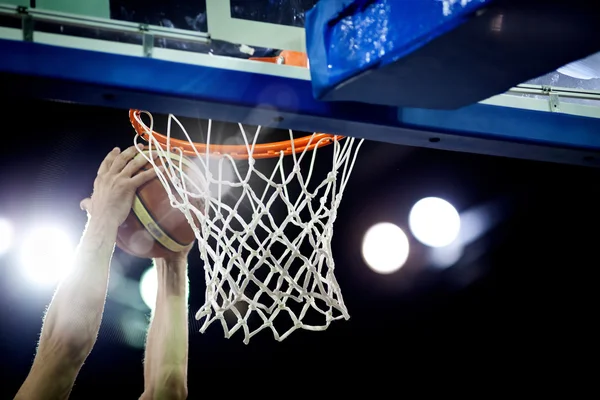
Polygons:
M133 176L146 161L132 161L136 153L135 148L113 150L98 170L91 199L81 203L89 219L73 272L48 307L33 366L15 399L68 398L96 342L117 229L129 214L135 190L154 177L153 171Z

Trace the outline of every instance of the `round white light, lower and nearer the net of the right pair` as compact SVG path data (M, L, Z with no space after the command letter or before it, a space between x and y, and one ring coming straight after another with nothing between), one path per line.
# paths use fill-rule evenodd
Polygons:
M362 253L365 262L373 271L391 274L399 270L408 259L408 238L402 229L394 224L376 224L363 238Z

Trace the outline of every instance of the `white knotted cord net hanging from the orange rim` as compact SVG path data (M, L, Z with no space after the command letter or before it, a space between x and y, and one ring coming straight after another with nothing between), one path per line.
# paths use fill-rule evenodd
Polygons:
M152 116L145 114L151 135ZM193 143L172 115L169 143L172 122ZM211 126L209 121L209 146ZM204 320L200 332L219 321L227 338L242 330L248 343L270 329L281 341L296 329L320 331L334 320L348 319L334 275L331 239L363 140L343 138L326 147L256 160L252 155L261 128L253 135L241 124L239 130L247 160L215 156L209 147L196 151L191 169L167 156L180 149L161 148L154 136L148 141L150 152L159 156L155 161L146 157L155 168L163 166L157 172L171 204L186 215L198 239L206 279L205 303L196 314ZM292 131L289 135L293 140ZM317 154L322 155L318 162ZM320 172L323 168L326 173Z

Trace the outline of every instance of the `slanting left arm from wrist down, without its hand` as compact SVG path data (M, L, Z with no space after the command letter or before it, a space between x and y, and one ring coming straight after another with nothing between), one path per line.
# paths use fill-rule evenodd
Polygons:
M48 307L33 366L16 399L69 396L100 328L116 232L109 223L90 220L75 269Z

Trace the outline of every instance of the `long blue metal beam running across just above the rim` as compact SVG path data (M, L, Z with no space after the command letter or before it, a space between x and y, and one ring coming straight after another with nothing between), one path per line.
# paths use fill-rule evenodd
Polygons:
M314 99L309 81L0 40L5 99L29 96L410 146L600 166L600 119L477 104L457 111ZM126 113L124 112L124 116Z

